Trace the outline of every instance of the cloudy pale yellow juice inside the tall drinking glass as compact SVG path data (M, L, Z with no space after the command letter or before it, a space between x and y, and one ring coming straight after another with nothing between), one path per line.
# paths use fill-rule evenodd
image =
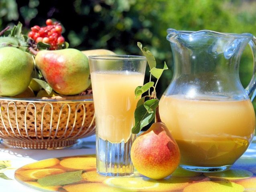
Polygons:
M91 73L97 134L113 143L126 142L134 126L138 99L134 91L142 86L144 74L138 72Z

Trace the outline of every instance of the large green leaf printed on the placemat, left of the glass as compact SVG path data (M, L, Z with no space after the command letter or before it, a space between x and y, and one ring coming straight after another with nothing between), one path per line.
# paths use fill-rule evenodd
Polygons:
M82 180L82 171L83 170L61 173L56 175L49 175L40 178L39 180L37 180L37 182L44 187L72 184Z

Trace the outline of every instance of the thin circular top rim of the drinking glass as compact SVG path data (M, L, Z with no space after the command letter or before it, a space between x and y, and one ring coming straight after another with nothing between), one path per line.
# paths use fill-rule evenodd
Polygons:
M137 55L91 55L88 58L95 60L146 60L145 56Z

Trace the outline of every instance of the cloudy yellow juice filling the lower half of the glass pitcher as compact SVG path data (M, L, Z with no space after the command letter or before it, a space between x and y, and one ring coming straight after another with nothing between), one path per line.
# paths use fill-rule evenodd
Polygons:
M233 164L248 148L255 129L250 100L186 100L162 96L160 116L181 150L181 164Z

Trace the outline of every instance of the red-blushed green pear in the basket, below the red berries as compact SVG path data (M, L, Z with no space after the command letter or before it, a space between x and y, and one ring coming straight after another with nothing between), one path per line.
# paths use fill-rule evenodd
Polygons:
M90 85L88 58L77 49L42 50L35 62L47 83L59 94L79 94Z

